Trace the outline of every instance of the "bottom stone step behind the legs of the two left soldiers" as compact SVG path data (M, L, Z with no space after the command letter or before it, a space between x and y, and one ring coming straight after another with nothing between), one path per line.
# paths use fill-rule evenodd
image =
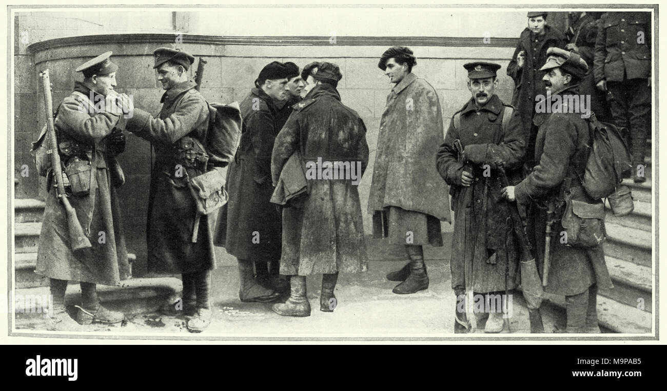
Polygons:
M171 298L180 296L183 286L179 278L160 277L160 278L130 278L121 281L118 286L97 285L97 295L100 302L109 310L120 311L124 314L143 314L154 312ZM23 288L15 291L17 297L19 294L27 295L49 295L49 287L41 286L37 288ZM75 305L81 305L81 288L79 284L69 284L67 294L65 294L65 304L68 310L73 314L77 308ZM22 316L32 316L38 314L17 314ZM39 316L38 316L39 317Z

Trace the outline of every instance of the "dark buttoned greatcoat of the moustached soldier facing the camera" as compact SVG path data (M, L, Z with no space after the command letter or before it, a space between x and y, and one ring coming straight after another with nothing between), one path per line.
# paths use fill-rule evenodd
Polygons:
M514 288L519 252L512 224L508 224L510 205L500 198L503 186L496 162L504 163L510 178L518 178L526 151L526 133L518 113L514 113L503 129L505 110L506 105L498 95L492 95L479 109L471 98L454 115L459 115L460 121L452 117L445 141L438 150L438 171L450 185L454 210L450 267L455 290L466 288L466 261L472 262L474 292L505 290L506 265L509 266L507 288ZM459 122L458 129L455 122ZM475 180L471 187L461 185L464 164L458 160L455 140L461 141L466 159L473 164Z

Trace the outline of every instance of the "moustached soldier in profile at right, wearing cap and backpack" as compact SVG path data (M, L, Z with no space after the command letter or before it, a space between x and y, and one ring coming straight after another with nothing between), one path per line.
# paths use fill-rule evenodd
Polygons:
M566 332L596 333L600 332L596 309L598 287L612 288L602 245L577 246L574 237L558 228L570 226L572 220L579 221L588 224L590 235L596 226L592 217L604 218L604 204L591 198L580 181L590 151L588 124L580 111L565 103L572 102L571 98L579 94L578 83L586 75L588 66L580 55L564 49L552 47L548 55L546 64L540 68L547 71L543 80L552 99L546 105L554 107L558 102L564 103L554 113L536 115L535 161L538 165L516 187L506 187L503 196L518 204L530 204L536 210L529 214L534 217L529 220L526 231L534 232L538 264L543 265L543 270L550 266L545 292L565 296ZM566 206L554 207L562 204ZM573 214L587 216L590 220L576 220ZM547 249L550 260L545 264L550 221L555 221L550 225L555 234ZM602 232L598 232L598 236L602 236Z

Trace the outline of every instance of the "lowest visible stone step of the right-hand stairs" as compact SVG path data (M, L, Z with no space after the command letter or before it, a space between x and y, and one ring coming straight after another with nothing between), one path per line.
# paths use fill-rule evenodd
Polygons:
M565 308L564 296L545 292L544 300L560 308ZM616 302L600 294L598 294L597 303L600 326L624 334L646 334L652 331L653 315L651 312L640 310L637 306ZM544 304L542 305L544 306Z

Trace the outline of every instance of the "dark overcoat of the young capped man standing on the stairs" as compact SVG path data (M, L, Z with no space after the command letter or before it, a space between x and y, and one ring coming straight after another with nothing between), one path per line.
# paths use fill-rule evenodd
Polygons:
M564 49L564 38L560 32L546 25L544 26L544 35L535 35L526 27L519 37L519 44L507 66L507 74L514 80L512 106L516 107L516 110L520 113L522 123L530 135L526 149L528 153L527 160L532 160L532 153L535 149L536 131L532 127L535 115L535 97L546 95L544 82L542 82L545 72L540 71L540 68L546 63L548 57L546 51L550 47ZM520 51L526 51L526 61L524 61L522 68L519 68L516 63L516 57ZM532 166L531 163L529 165Z

